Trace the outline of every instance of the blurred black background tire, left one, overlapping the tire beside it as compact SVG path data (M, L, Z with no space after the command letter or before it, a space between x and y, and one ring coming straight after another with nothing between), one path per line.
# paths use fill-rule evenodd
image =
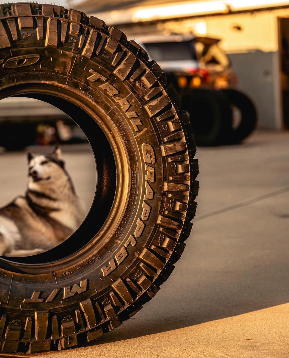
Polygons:
M198 88L182 100L182 108L189 113L197 145L215 146L227 141L231 134L232 111L222 92Z

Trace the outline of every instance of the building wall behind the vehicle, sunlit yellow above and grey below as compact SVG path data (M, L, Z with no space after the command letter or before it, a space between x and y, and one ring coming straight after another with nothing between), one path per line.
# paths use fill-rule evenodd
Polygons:
M239 78L239 89L256 105L259 127L281 129L279 17L289 17L289 9L169 20L155 25L155 30L220 38ZM141 28L144 31L142 26L139 30ZM149 31L151 29L150 26ZM131 37L134 31L139 31L124 30L128 30Z

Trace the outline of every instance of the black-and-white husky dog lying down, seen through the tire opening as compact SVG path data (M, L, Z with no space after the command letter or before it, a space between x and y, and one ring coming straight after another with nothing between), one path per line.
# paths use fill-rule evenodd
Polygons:
M0 209L0 255L30 256L66 240L85 213L64 168L61 149L28 153L28 189Z

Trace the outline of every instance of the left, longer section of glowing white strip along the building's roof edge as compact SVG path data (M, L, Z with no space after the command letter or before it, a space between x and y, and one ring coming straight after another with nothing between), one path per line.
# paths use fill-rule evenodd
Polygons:
M219 14L228 10L222 1L200 1L196 3L175 3L165 6L153 6L134 12L133 21L168 19L176 16Z

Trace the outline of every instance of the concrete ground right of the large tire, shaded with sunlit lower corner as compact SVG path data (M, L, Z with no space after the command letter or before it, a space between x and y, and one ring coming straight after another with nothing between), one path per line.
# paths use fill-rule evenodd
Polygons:
M95 344L32 357L288 357L289 132L197 158L193 232L160 292Z

